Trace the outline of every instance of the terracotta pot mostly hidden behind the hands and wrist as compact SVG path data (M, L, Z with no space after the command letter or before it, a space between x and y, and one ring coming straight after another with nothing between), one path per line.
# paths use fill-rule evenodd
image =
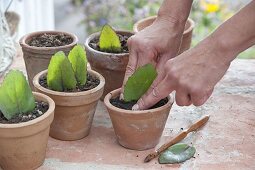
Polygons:
M151 16L151 17L147 17L142 20L139 20L133 26L134 32L137 33L143 30L144 28L150 26L155 21L156 18L157 16ZM185 29L183 32L182 43L180 46L179 54L181 54L182 52L190 48L191 40L192 40L192 31L194 26L195 26L194 21L189 18L186 22Z

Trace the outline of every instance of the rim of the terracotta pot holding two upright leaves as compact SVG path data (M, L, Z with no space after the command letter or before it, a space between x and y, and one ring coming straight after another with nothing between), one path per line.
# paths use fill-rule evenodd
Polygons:
M42 75L46 74L47 72L48 72L48 70L44 70L44 71L41 71L38 74L36 74L36 76L33 78L33 85L36 88L38 88L40 91L43 91L43 92L45 92L47 94L51 94L51 95L57 95L57 96L63 96L63 97L85 96L85 95L92 94L92 93L95 93L95 92L99 91L100 89L102 89L104 87L104 84L105 84L105 79L104 79L104 77L101 74L99 74L98 72L96 72L94 70L88 70L89 73L92 73L97 78L99 78L100 83L99 83L98 86L96 86L93 89L87 90L87 91L80 91L80 92L58 92L58 91L47 89L47 88L45 88L45 87L43 87L43 86L41 86L39 84L39 78Z

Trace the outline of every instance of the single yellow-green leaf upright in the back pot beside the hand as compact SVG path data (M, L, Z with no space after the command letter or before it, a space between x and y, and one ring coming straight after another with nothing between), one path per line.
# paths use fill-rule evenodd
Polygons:
M118 35L108 24L104 25L100 37L99 47L101 51L106 52L120 52L121 44Z

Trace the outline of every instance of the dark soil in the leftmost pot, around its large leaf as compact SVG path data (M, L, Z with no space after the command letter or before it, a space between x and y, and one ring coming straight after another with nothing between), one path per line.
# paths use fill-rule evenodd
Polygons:
M14 124L14 123L27 122L27 121L30 121L30 120L33 120L35 118L42 116L49 109L49 105L46 102L36 101L35 104L36 104L36 106L33 111L24 113L24 114L19 114L10 120L7 120L4 117L3 113L0 111L0 123Z

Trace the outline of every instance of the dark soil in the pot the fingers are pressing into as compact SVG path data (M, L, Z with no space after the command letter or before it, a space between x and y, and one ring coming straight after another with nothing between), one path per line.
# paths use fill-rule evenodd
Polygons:
M136 104L137 101L125 102L124 100L120 100L119 97L110 99L110 103L118 108L125 109L125 110L132 110L132 107ZM149 109L155 109L157 107L161 107L168 102L168 98L161 99L158 103L154 106L150 107Z

